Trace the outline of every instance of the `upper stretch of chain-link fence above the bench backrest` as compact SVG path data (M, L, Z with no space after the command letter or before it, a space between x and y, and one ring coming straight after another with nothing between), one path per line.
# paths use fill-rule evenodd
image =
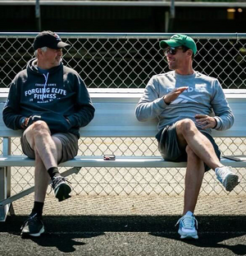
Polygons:
M144 88L154 74L168 71L159 40L170 34L65 34L71 48L64 63L90 88ZM245 89L246 34L189 34L198 45L194 68L217 77L224 88ZM33 56L35 34L0 33L0 86L9 86Z

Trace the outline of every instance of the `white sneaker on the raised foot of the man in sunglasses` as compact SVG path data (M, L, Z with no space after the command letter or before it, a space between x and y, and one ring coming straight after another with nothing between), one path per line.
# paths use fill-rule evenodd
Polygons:
M235 188L236 185L240 183L239 176L235 175L235 173L231 171L230 166L217 167L215 172L217 179L221 182L227 191L231 191Z

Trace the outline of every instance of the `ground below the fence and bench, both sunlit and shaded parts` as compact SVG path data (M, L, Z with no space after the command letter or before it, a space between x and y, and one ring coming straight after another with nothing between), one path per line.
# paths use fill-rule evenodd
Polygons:
M44 208L45 233L21 239L33 195L0 223L0 255L246 255L246 196L201 197L199 240L183 241L175 222L182 197L74 196Z

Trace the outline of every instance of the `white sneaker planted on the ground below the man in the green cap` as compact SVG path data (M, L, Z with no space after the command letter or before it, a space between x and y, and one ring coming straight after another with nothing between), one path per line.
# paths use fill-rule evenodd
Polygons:
M179 223L178 233L181 239L198 239L198 221L192 212L187 212L185 216L182 216L176 225Z

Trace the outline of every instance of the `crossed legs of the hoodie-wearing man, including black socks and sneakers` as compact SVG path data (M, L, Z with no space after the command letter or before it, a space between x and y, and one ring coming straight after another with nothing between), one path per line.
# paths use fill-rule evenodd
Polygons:
M35 186L34 207L30 217L24 222L23 226L21 226L21 235L39 236L44 232L42 221L43 204L48 188L48 181L51 178L50 175L48 175L48 170L50 168L57 168L57 162L61 161L62 142L57 137L51 136L47 124L42 121L30 125L30 127L25 130L25 137L35 153ZM70 197L69 193L71 188L62 180L61 176L55 181L52 179L52 184L59 201ZM54 184L57 184L57 187L55 187ZM67 191L69 191L69 193L67 193Z

